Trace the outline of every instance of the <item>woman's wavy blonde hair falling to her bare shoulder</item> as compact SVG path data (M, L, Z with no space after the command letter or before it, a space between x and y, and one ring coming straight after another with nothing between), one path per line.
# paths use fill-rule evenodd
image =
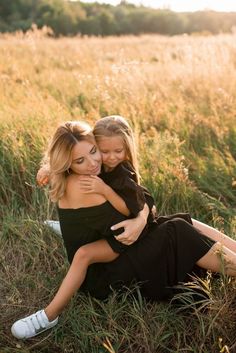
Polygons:
M46 153L50 168L50 198L57 202L65 193L72 149L79 141L95 143L92 128L82 121L67 121L56 130Z

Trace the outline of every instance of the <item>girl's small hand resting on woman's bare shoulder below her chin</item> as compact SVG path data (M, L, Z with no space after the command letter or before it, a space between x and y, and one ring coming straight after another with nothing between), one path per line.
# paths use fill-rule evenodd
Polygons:
M78 177L79 188L83 194L102 194L105 195L107 184L96 175L81 175Z

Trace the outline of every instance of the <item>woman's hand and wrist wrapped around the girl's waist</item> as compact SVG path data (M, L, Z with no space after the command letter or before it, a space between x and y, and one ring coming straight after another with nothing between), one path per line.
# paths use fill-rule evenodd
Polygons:
M112 226L112 230L124 228L124 232L116 236L116 239L125 245L133 244L139 238L147 223L148 213L149 207L145 204L143 210L139 212L136 218L127 219Z

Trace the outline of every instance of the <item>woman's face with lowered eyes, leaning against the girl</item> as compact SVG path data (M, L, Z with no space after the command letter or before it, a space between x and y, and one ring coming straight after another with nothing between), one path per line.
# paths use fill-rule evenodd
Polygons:
M79 141L72 149L70 169L79 175L98 175L101 172L102 158L95 143Z

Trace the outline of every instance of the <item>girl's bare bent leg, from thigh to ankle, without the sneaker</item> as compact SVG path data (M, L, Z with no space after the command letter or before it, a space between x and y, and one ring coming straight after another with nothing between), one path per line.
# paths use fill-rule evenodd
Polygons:
M74 255L59 290L45 309L48 320L54 320L69 303L74 293L82 285L89 265L97 262L110 262L115 260L117 256L118 254L103 239L80 247Z

